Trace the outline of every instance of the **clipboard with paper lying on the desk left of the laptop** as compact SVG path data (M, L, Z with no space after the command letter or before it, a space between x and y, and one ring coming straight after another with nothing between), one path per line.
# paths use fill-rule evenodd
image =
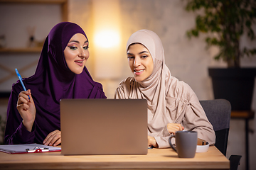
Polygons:
M61 151L60 147L51 147L46 145L39 144L22 144L22 145L0 145L0 151L6 152L9 154L25 154L28 153L26 149L34 149L34 148L48 148L47 152L58 152Z

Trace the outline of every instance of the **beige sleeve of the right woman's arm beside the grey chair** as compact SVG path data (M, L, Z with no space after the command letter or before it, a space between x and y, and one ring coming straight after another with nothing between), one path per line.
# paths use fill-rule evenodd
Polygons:
M215 143L215 132L213 125L210 124L203 107L198 101L196 94L188 84L185 84L188 89L188 105L186 108L183 126L185 130L193 130L198 132L198 138L206 140L210 145Z

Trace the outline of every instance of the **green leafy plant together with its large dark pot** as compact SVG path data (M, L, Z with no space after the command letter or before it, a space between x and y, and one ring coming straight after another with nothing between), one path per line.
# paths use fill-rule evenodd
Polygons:
M256 48L241 47L240 38L247 34L255 40L252 23L256 18L253 0L188 0L186 11L199 11L196 27L188 30L188 38L208 33L207 47L219 47L215 60L227 62L228 68L208 68L213 80L215 98L230 101L232 110L250 110L256 68L241 68L240 58L256 54ZM250 90L250 91L247 91Z

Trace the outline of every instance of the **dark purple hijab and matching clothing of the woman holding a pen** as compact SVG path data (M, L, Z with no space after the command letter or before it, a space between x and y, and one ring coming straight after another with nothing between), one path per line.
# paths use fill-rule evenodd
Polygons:
M13 85L7 108L5 144L42 144L50 132L60 130L61 98L106 98L102 85L93 81L86 67L81 74L75 74L65 62L65 47L76 33L85 35L75 23L54 26L44 42L35 74L23 79L26 89L31 89L36 106L32 132L23 126L16 109L18 94L23 91L21 83L17 81Z

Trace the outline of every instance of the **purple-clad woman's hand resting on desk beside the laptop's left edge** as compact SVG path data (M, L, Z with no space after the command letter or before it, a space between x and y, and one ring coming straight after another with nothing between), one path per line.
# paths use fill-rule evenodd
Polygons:
M46 139L43 140L43 145L57 146L61 143L61 132L60 130L54 130L50 132Z

